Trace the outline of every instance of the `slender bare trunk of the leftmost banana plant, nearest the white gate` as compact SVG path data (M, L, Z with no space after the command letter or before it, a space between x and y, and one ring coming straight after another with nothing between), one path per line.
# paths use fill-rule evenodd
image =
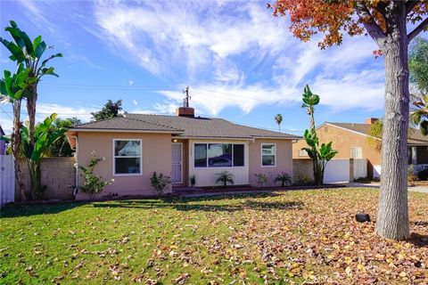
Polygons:
M21 181L21 167L18 161L20 157L20 147L21 147L21 101L13 102L13 131L12 131L12 157L13 165L15 167L15 181L18 184L18 189L20 191L20 199L28 199L28 194L25 191L24 183Z

